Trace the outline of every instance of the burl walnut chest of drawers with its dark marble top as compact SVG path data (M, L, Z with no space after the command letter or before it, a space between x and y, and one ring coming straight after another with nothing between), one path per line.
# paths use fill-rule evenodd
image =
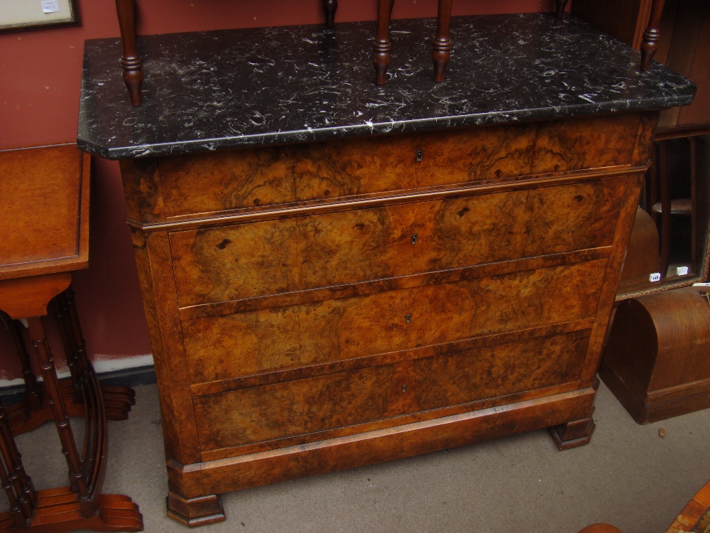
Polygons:
M432 21L396 22L384 90L371 23L153 36L136 109L115 41L87 43L80 145L122 160L175 519L519 431L589 441L656 109L694 87L574 19L454 22L441 85Z

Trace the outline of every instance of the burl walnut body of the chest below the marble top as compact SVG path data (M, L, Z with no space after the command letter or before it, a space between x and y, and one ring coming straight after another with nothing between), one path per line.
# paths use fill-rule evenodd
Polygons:
M170 515L518 431L589 441L656 119L121 161Z

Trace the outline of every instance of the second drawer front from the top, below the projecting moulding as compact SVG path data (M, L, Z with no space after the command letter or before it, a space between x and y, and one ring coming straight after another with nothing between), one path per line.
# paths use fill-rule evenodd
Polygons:
M623 179L175 232L180 306L610 246Z

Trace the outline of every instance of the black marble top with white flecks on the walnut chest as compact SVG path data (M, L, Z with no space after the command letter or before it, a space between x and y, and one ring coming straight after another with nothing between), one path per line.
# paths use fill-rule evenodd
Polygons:
M107 158L662 109L695 86L576 18L452 19L432 79L432 18L395 20L388 81L374 84L373 22L138 38L143 105L131 107L116 38L87 41L77 144Z

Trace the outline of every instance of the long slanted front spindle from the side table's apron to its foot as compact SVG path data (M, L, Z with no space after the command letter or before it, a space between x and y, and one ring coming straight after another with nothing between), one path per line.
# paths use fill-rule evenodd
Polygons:
M45 383L45 392L52 409L52 415L57 426L60 442L62 443L62 453L69 466L69 480L72 490L77 492L80 509L84 517L94 514L92 502L89 498L87 480L84 477L84 468L77 451L77 445L72 433L72 426L69 422L67 409L62 399L62 394L57 379L57 372L54 366L54 357L47 344L44 324L42 318L35 316L28 318L30 326L30 337L35 349L35 355L40 364L42 377Z

